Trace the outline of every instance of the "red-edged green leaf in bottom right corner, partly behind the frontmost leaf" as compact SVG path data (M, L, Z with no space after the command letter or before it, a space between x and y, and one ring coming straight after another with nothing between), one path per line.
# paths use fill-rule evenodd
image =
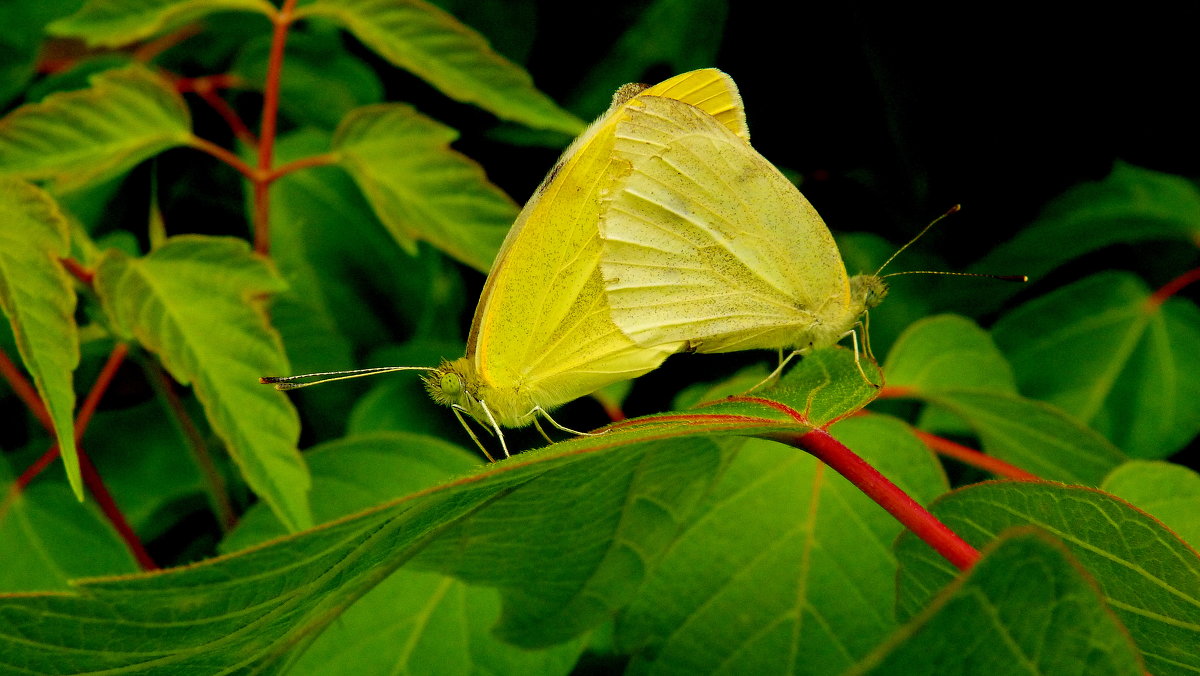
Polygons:
M1200 670L1200 558L1174 533L1097 490L1051 483L994 481L949 493L934 514L976 546L1014 526L1037 526L1070 551L1157 676ZM901 536L898 609L911 617L958 570L928 545ZM1026 588L1033 588L1027 580Z

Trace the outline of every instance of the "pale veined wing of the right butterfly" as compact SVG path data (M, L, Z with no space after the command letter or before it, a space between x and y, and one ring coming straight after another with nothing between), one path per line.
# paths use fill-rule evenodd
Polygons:
M613 155L626 166L605 187L601 265L613 321L635 342L802 347L850 313L821 216L726 125L638 97L620 114Z

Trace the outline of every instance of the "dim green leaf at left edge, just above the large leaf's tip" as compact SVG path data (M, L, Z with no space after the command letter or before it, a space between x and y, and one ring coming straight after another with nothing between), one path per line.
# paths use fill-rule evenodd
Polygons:
M136 573L128 549L92 503L61 481L17 491L0 463L0 592L68 590L72 578Z

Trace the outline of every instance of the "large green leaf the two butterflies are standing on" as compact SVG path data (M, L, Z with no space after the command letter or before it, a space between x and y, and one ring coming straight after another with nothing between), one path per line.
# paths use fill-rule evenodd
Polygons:
M46 674L269 670L416 555L498 587L504 639L560 641L631 600L719 477L725 453L696 435L803 432L872 390L847 351L828 349L773 391L630 420L188 568L5 597L0 659ZM763 536L749 546L768 549L776 533Z

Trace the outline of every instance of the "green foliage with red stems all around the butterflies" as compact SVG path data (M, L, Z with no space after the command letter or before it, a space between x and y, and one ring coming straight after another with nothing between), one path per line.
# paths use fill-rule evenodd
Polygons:
M556 98L726 59L785 162L839 103L732 60L724 0L544 5L0 8L0 671L1200 670L1189 178L1115 162L972 258L1030 285L890 277L857 351L673 355L496 463L416 373L258 382L461 355L553 162L522 144L583 128ZM836 228L830 186L928 207L894 160L790 175ZM900 232L839 237L850 273ZM938 237L888 271L965 267Z

